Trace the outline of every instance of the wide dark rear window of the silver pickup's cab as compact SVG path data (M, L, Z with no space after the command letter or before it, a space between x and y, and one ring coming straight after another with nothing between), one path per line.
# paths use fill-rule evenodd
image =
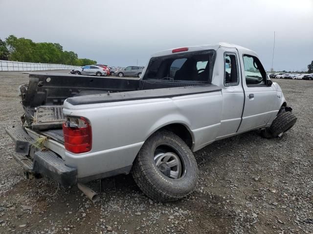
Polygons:
M142 79L211 82L214 50L151 58Z

